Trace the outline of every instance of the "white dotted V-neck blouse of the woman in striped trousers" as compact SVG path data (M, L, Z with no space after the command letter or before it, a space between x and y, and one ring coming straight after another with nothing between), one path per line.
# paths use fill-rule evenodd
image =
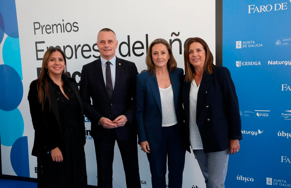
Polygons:
M203 149L203 144L200 136L198 126L196 124L197 111L197 95L200 84L196 85L195 80L192 80L189 94L189 110L190 110L190 144L192 149Z

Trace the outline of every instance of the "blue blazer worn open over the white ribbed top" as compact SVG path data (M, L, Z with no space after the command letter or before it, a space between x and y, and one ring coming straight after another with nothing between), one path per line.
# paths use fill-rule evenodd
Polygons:
M182 82L184 70L169 72L174 95L174 105L181 136L183 134ZM150 152L159 149L162 135L162 104L157 77L150 70L136 76L136 122L139 143L148 141Z

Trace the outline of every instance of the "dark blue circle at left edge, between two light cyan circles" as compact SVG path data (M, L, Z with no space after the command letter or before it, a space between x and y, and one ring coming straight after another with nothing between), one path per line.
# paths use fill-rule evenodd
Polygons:
M16 109L22 95L22 81L16 70L9 65L0 65L0 109L4 111Z

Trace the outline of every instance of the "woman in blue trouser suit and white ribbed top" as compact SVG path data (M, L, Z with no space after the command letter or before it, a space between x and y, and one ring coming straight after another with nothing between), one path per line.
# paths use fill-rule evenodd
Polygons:
M165 39L154 40L147 52L148 70L136 76L136 120L141 149L147 153L153 188L182 187L185 162L183 141L183 69Z

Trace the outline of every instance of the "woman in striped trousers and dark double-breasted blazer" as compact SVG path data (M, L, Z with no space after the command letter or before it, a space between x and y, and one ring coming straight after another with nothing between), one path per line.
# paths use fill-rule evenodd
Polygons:
M198 37L184 48L182 98L185 137L193 149L206 187L224 187L229 154L239 151L241 121L235 86L226 67L215 66L206 42Z

